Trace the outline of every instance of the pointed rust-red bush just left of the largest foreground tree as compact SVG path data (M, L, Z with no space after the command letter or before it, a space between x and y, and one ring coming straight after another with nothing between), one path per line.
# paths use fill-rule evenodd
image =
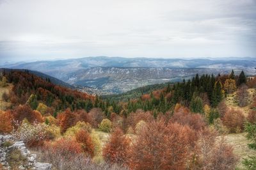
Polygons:
M106 162L111 164L127 163L128 151L130 148L130 140L124 136L120 128L116 128L103 149L103 157Z

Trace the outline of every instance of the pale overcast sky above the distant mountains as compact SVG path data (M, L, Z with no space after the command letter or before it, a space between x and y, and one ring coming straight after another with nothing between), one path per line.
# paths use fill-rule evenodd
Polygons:
M0 63L255 54L255 0L0 0Z

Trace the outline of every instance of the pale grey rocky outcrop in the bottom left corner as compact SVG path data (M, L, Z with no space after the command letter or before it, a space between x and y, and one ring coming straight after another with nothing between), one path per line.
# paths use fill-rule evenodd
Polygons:
M3 169L51 170L51 164L36 162L36 154L31 154L23 141L13 141L12 135L0 135L0 164ZM0 167L1 169L1 167Z

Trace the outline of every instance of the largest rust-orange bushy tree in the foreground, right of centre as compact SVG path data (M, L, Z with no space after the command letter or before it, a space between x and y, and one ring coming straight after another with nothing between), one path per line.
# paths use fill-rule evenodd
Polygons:
M195 131L179 123L148 123L132 145L131 169L185 169Z

